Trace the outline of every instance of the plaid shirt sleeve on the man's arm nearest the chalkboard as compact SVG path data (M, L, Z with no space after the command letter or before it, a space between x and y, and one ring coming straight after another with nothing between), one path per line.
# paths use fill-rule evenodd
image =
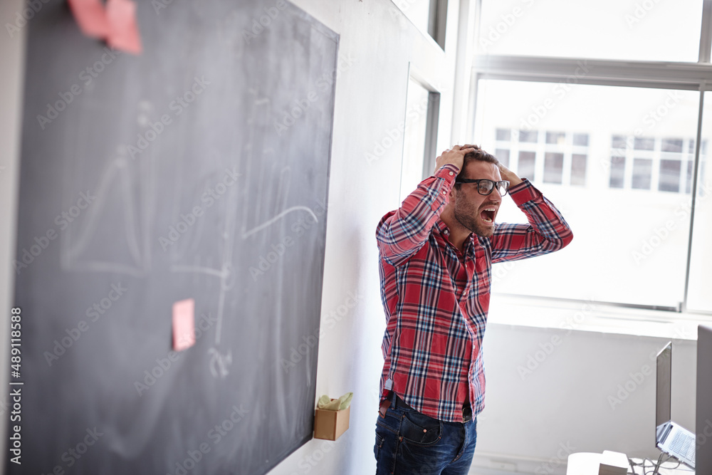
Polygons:
M458 174L455 165L440 167L433 176L418 184L401 207L389 212L376 228L381 259L398 266L415 254L428 240Z

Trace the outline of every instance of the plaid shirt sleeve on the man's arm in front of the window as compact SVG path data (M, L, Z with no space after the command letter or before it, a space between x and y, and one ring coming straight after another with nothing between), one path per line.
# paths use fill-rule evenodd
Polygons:
M570 226L528 179L512 187L510 194L529 224L496 224L491 237L492 263L548 254L571 242L574 235Z

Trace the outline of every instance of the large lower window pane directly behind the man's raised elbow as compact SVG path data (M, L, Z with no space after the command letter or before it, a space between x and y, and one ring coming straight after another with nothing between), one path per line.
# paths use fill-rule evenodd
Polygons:
M662 161L680 157L686 162L689 155L662 148L664 140L666 147L678 147L671 140L682 140L687 150L696 137L700 93L676 91L680 100L667 113L668 90L568 86L561 95L557 83L478 81L473 135L483 137L484 150L511 150L516 172L535 171L528 178L560 209L575 236L562 251L496 264L493 272L498 266L506 272L493 282L493 291L676 308L684 300L690 230L684 210L689 209L691 194L660 191L674 174ZM553 107L541 117L533 115L545 101ZM660 120L649 124L646 114L659 109ZM538 138L513 140L505 147L494 140L497 128L538 131ZM712 138L712 125L710 130ZM565 134L565 144L547 144L548 132ZM588 145L574 145L575 134L587 135ZM647 150L637 150L636 139L645 139L638 145ZM561 160L554 160L553 154L563 155L561 184L547 183L553 165L558 167ZM712 187L709 196L712 207ZM504 200L497 219L527 222L511 199ZM656 234L660 229L665 239ZM700 242L712 249L712 235Z

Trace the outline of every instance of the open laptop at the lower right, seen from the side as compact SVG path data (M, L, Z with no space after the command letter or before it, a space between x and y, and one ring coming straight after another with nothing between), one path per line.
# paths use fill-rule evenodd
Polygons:
M691 469L695 468L695 434L672 422L670 417L672 387L672 343L657 357L655 447L673 456Z

